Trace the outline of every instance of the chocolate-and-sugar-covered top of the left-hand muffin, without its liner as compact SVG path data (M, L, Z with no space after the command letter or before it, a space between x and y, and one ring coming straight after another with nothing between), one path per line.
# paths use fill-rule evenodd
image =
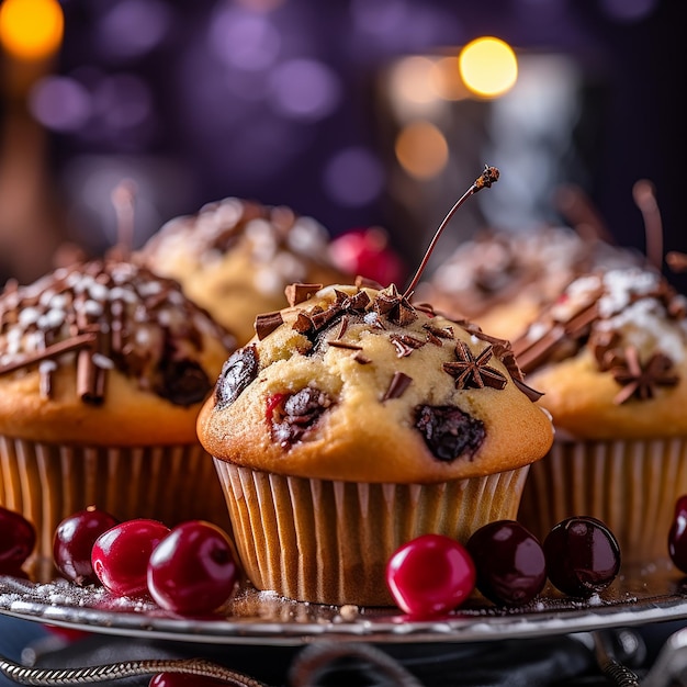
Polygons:
M0 294L0 431L97 444L195 440L235 338L179 284L95 260Z

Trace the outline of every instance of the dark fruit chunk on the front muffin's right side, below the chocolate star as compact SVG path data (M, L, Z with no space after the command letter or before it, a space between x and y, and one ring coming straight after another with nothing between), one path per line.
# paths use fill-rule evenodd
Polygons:
M417 406L415 414L415 427L440 461L472 460L486 436L482 420L455 406Z

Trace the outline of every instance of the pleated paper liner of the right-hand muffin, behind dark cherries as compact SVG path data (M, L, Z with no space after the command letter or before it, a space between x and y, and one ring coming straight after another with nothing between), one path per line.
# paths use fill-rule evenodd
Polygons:
M675 502L687 494L687 439L555 440L532 465L518 519L542 541L570 516L602 520L623 565L668 558Z

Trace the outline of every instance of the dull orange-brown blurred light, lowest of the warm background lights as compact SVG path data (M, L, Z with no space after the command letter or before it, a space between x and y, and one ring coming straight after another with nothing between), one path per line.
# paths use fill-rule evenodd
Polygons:
M443 134L430 122L414 122L401 129L395 144L396 159L416 179L431 179L449 159Z

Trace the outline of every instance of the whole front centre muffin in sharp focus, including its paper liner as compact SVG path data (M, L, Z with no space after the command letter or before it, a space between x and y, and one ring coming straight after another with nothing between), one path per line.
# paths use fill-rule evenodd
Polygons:
M552 441L509 345L391 285L293 284L225 363L198 431L259 589L393 604L392 553L514 518Z

